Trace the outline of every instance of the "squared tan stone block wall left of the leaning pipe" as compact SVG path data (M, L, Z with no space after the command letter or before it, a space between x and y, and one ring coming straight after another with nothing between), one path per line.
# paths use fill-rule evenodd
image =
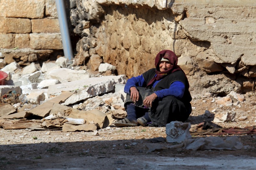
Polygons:
M7 64L28 65L21 55L47 59L62 49L55 0L0 0L0 11L0 56L12 58Z

